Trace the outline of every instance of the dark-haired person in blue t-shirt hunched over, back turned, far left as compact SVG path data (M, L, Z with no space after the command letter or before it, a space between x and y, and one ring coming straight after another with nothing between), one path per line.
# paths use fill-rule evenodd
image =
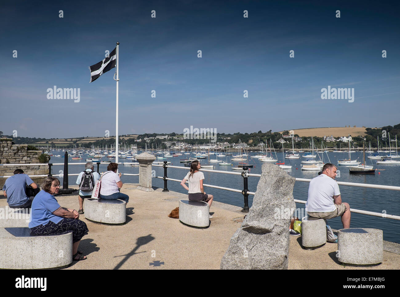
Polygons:
M14 175L8 177L3 186L4 197L7 197L8 206L11 208L30 208L34 197L27 197L25 188L30 185L33 189L38 186L22 169L15 169Z

